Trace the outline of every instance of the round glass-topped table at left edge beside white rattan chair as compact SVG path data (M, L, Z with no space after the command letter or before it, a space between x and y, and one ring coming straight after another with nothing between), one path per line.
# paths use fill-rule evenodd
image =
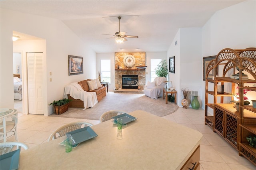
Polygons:
M6 132L6 119L11 115L17 114L16 109L0 109L0 129L3 129L1 135L4 136L4 142L7 140L7 132Z

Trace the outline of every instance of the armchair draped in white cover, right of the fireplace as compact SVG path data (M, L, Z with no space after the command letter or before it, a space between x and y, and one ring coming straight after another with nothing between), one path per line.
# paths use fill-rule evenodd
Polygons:
M153 82L147 83L144 87L144 94L151 99L157 99L163 96L163 88L165 86L165 77L156 77Z

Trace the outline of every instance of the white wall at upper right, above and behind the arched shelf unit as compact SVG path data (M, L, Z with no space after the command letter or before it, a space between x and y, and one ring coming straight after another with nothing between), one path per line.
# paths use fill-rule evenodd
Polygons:
M202 57L217 55L224 48L247 47L256 47L256 1L220 10L202 27ZM205 81L201 82L204 95ZM247 95L250 97L249 93ZM204 98L202 101L204 108Z

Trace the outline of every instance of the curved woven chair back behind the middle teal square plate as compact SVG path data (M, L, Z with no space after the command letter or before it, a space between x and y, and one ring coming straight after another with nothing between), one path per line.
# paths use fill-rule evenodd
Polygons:
M56 130L54 130L54 132L52 132L52 134L48 138L48 141L65 136L67 132L71 132L71 131L74 131L74 130L77 130L77 129L80 129L83 127L87 127L87 126L92 126L92 124L88 123L88 122L68 123L62 127L57 128Z

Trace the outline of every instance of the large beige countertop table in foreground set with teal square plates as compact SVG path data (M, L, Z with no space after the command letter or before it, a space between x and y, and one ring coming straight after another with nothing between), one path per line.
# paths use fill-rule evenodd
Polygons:
M19 170L180 169L200 144L196 130L144 111L129 114L138 119L123 126L121 140L113 120L106 121L92 126L97 137L71 152L58 144L65 136L22 151Z

